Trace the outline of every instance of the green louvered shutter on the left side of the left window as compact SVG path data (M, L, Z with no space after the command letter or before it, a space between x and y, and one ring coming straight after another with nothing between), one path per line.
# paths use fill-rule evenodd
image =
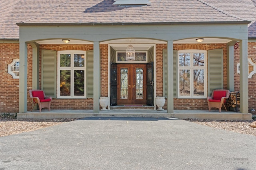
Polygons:
M56 98L56 51L42 50L42 90Z

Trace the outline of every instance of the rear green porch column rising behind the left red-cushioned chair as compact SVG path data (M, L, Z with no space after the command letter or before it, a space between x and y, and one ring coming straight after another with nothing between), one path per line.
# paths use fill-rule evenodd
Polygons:
M30 43L32 46L32 89L39 89L39 47L38 43Z

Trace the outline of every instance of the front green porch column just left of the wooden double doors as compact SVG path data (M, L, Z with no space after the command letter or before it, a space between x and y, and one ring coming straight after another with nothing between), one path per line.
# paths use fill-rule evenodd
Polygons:
M100 43L93 42L93 113L100 113Z

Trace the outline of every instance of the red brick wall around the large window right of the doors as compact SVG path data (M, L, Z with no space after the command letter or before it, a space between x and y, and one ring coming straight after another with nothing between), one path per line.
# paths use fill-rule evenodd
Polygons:
M162 50L166 49L166 44L156 45L156 96L163 95L163 65L162 65ZM212 50L212 49L223 49L223 76L224 76L224 88L227 88L227 48L226 44L174 44L174 50L186 50L186 49L198 49L198 50ZM166 104L163 107L167 108ZM206 98L203 99L182 99L174 98L174 109L208 109Z

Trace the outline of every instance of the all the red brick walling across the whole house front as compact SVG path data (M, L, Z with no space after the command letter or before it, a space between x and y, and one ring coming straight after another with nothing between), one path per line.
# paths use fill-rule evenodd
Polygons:
M248 43L248 58L256 63L256 43ZM227 50L225 44L174 44L174 50L184 49L223 49L224 51L224 88L227 88ZM41 50L91 50L93 45L40 45L40 76L41 76ZM163 95L162 75L162 49L166 44L156 45L156 96ZM108 45L100 45L101 55L101 96L108 96ZM0 44L0 113L15 113L19 111L19 79L13 79L8 74L8 64L13 59L19 59L19 43ZM234 53L234 81L235 90L239 91L239 75L237 74L239 63L239 48ZM41 79L40 79L41 87ZM32 89L32 47L28 45L28 90ZM248 79L249 110L256 109L256 75ZM28 110L32 107L32 100L28 94ZM166 108L166 105L164 106ZM53 99L51 109L93 109L93 99ZM206 99L174 99L174 109L208 109Z

